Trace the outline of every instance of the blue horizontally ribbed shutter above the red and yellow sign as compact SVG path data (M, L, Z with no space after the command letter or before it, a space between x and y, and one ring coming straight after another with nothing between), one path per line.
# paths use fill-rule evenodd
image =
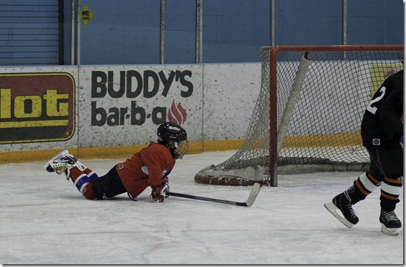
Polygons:
M0 1L0 65L58 65L58 0Z

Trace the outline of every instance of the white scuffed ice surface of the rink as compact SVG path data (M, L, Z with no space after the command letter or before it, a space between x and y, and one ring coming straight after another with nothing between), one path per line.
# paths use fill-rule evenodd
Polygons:
M194 175L235 151L186 155L171 191L244 202L250 187L203 185ZM124 159L81 160L104 175ZM404 264L399 236L380 232L379 192L354 206L348 229L323 207L360 173L279 175L252 207L127 194L85 200L43 162L0 165L0 263L15 264ZM397 216L403 222L403 192Z

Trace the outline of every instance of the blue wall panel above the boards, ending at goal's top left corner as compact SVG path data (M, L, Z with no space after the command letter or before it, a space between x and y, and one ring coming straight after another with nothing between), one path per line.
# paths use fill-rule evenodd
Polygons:
M203 62L259 62L270 34L270 1L203 1Z

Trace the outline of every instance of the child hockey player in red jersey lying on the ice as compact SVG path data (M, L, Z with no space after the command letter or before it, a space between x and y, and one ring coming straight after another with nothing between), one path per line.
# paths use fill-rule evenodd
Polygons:
M102 200L127 192L134 200L146 187L151 187L151 200L163 202L169 194L168 175L176 159L188 150L186 131L173 122L161 124L158 141L151 142L123 163L118 163L106 175L98 176L68 151L63 151L44 164L48 172L65 173L88 200Z

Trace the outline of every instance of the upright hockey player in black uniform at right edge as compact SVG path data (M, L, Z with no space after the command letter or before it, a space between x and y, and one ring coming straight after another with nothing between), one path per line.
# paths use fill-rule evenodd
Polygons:
M363 116L361 136L370 156L369 170L324 207L351 228L358 223L353 205L380 187L381 231L397 235L402 226L395 207L403 185L403 70L386 78L373 96Z

